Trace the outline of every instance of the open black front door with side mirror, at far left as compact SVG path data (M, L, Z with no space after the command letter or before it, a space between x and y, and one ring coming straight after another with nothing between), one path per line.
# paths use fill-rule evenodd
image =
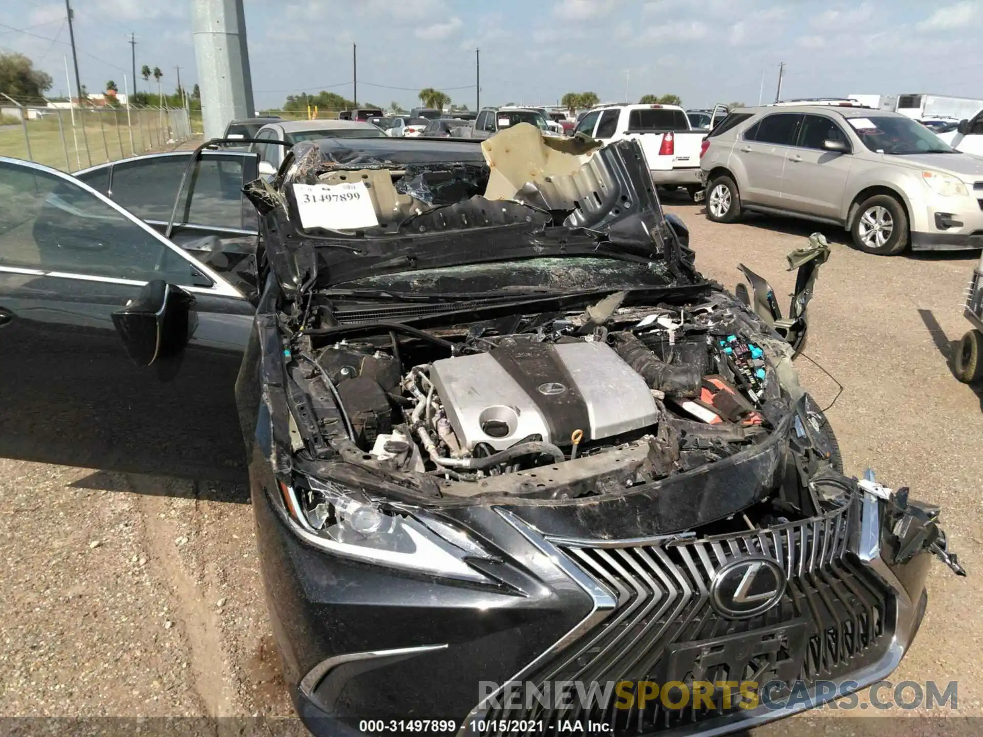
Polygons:
M234 385L254 312L84 182L0 157L0 456L244 478Z

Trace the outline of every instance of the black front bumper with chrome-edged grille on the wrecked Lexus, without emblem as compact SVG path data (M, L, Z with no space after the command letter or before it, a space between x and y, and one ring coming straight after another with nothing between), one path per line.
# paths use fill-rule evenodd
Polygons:
M713 681L720 668L739 672L755 660L766 667L762 680L803 681L809 690L788 708L657 705L574 715L609 721L615 734L638 734L639 726L646 734L724 733L886 677L927 601L929 556L889 565L884 502L869 495L806 522L707 540L550 539L511 512L471 510L472 532L502 552L488 569L502 584L488 587L328 555L297 539L256 486L253 501L285 679L315 734L354 734L366 719L463 727L472 719L555 723L565 714L505 709L494 693L482 703L491 689L482 692L480 682ZM749 553L776 560L787 587L761 616L723 619L709 602L715 566Z

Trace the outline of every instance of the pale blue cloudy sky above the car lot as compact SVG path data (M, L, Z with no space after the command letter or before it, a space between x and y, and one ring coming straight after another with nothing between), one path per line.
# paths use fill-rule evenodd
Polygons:
M158 66L173 89L197 81L192 0L73 0L84 85L122 90L130 71ZM0 0L0 49L22 51L66 89L64 3ZM604 100L673 92L690 107L851 92L983 97L983 0L246 0L258 106L292 90L415 102L444 89L474 107L475 48L482 102L555 102L566 91ZM31 35L33 34L33 35ZM71 61L71 57L70 57ZM128 75L129 76L129 75ZM74 82L73 82L74 84ZM132 84L132 83L131 83ZM144 85L143 81L140 81ZM403 88L400 88L403 87Z

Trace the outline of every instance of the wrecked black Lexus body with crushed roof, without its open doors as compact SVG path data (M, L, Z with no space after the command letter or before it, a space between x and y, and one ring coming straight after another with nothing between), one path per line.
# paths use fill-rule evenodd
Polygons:
M782 318L695 269L637 143L531 126L304 142L247 194L237 402L316 733L745 728L886 676L926 553L959 570L797 382L819 239Z

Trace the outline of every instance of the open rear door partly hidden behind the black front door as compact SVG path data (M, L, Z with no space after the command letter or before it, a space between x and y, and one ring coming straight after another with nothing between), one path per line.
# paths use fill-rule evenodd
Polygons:
M160 233L166 233L174 212L170 240L253 298L259 223L256 208L243 196L242 188L259 176L259 154L202 150L182 187L196 153L150 153L85 169L75 176Z

